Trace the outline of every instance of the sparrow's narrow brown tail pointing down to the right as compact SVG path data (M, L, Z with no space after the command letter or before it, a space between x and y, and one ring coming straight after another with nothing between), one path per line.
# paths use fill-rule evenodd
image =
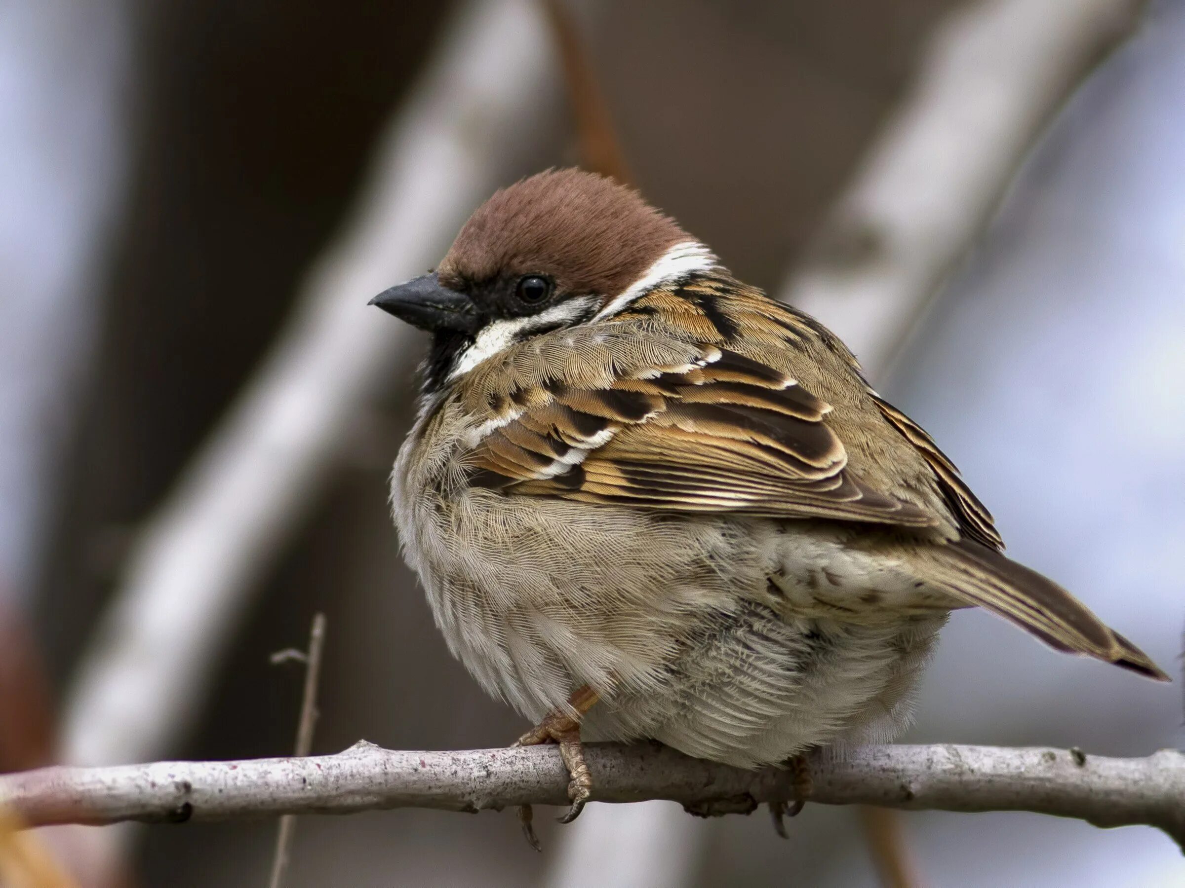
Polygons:
M948 591L1012 620L1051 648L1171 681L1152 659L1052 580L971 540L930 549Z

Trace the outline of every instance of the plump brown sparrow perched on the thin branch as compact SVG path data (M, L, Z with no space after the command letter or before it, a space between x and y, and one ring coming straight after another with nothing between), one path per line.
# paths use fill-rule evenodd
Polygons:
M961 607L1168 680L1003 554L833 333L627 187L524 179L372 304L431 333L391 478L404 555L453 655L537 723L519 744L559 744L563 822L582 739L747 768L891 740Z

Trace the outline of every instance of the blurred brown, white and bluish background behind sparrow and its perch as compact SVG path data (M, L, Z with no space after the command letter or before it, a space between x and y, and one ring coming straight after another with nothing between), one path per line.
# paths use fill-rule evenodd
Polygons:
M366 301L495 187L606 150L848 337L1010 553L1179 675L1183 96L1180 0L5 4L0 771L288 754L302 676L269 654L316 611L314 751L521 733L399 558L424 342ZM904 739L1145 755L1181 718L1180 684L961 612ZM303 818L287 884L885 880L847 809L788 842L662 803L538 819L543 855L511 813ZM915 883L1185 883L1152 829L898 825ZM230 886L274 835L46 842L83 884Z

